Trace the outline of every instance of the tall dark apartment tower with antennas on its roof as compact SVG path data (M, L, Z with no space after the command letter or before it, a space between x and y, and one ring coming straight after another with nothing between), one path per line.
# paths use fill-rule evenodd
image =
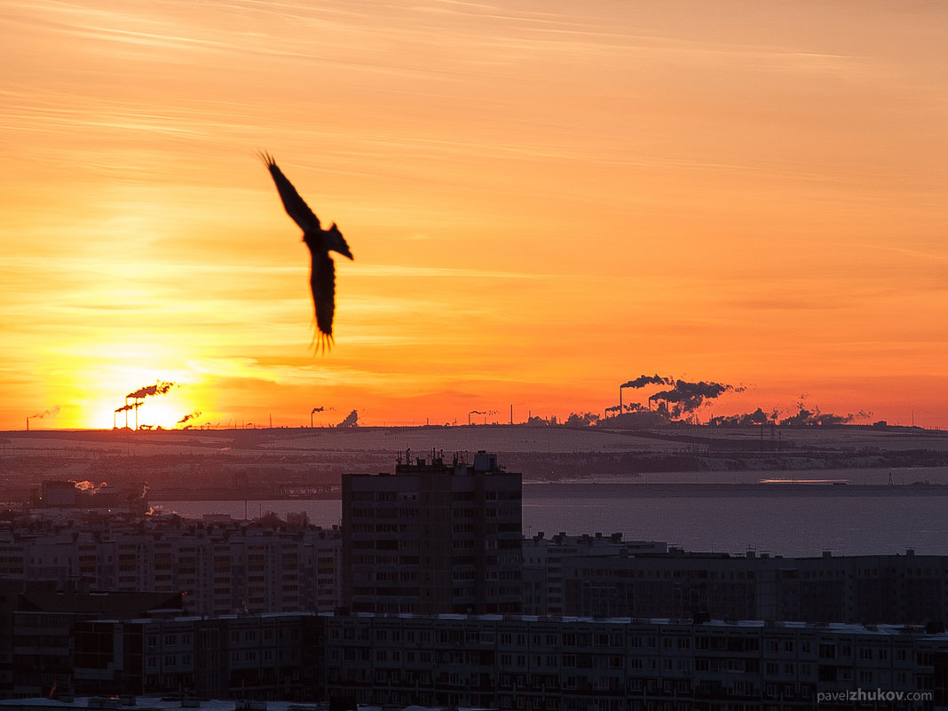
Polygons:
M479 451L342 478L343 600L353 612L521 610L521 477Z

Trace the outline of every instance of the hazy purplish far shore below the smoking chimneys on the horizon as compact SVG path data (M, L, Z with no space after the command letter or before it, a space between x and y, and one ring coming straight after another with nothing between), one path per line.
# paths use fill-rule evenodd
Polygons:
M718 483L725 472L758 472L758 481L817 471L861 483L866 473L905 470L894 483L923 484L942 483L948 470L948 432L883 425L46 429L0 432L0 503L28 501L50 478L147 485L154 500L338 498L343 474L384 471L406 450L485 447L526 482L687 472L691 483Z

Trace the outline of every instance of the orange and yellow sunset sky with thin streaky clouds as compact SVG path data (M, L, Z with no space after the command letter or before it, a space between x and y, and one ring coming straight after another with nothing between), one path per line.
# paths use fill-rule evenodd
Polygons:
M896 0L0 0L0 429L159 381L139 423L563 419L640 374L736 386L702 420L948 428L946 36ZM261 150L355 254L325 356Z

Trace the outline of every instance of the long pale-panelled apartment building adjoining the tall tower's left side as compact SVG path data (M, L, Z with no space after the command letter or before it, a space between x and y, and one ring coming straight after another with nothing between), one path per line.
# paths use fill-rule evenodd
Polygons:
M176 518L0 529L0 579L61 589L184 593L195 614L335 610L337 529Z

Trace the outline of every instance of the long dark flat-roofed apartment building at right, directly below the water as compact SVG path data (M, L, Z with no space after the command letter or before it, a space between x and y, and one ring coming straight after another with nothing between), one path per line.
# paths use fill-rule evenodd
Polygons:
M948 619L948 556L571 556L564 611L813 623L925 624Z

